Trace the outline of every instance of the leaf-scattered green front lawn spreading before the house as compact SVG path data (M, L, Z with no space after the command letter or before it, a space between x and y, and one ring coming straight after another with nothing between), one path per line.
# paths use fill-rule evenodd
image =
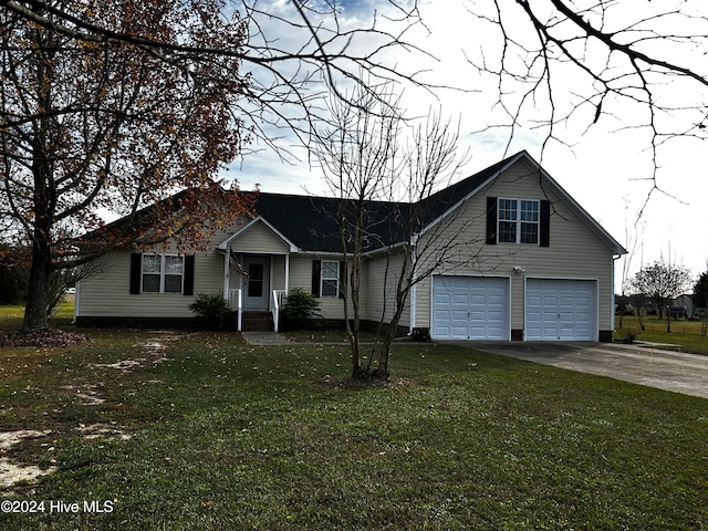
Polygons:
M451 345L396 344L368 386L343 345L83 332L0 354L0 430L52 430L0 457L58 467L0 499L114 510L0 529L708 528L701 398Z

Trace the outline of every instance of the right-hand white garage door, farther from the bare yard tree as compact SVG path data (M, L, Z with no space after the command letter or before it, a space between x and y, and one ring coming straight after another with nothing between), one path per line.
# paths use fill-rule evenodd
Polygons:
M596 282L527 281L527 341L595 341Z

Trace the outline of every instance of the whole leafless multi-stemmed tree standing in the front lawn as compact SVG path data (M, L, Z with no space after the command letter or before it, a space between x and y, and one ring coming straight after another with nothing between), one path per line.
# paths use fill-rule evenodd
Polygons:
M391 85L377 95L355 88L345 100L333 98L331 108L332 124L320 131L313 152L340 204L352 375L387 378L392 345L413 287L434 272L477 260L479 242L457 238L471 220L455 212L444 216L454 210L454 201L446 195L449 189L436 194L466 156L458 152L458 131L436 113L423 123L408 123ZM369 272L382 280L383 306L375 347L363 364L360 287L367 259L383 268Z

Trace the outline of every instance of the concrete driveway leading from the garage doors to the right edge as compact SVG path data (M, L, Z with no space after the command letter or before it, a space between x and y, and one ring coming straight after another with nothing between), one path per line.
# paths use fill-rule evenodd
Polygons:
M708 398L708 356L642 345L574 342L451 342L477 351Z

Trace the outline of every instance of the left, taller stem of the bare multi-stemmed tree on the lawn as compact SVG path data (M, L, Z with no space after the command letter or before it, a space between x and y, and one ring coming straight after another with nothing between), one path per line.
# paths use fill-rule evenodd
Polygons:
M336 221L343 250L341 289L344 323L352 350L352 375L362 376L361 280L365 252L388 241L388 215L383 192L400 169L398 135L402 116L392 86L353 88L344 98L332 95L329 127L319 129L312 150L324 170L330 192L337 198ZM383 212L383 218L382 218Z

